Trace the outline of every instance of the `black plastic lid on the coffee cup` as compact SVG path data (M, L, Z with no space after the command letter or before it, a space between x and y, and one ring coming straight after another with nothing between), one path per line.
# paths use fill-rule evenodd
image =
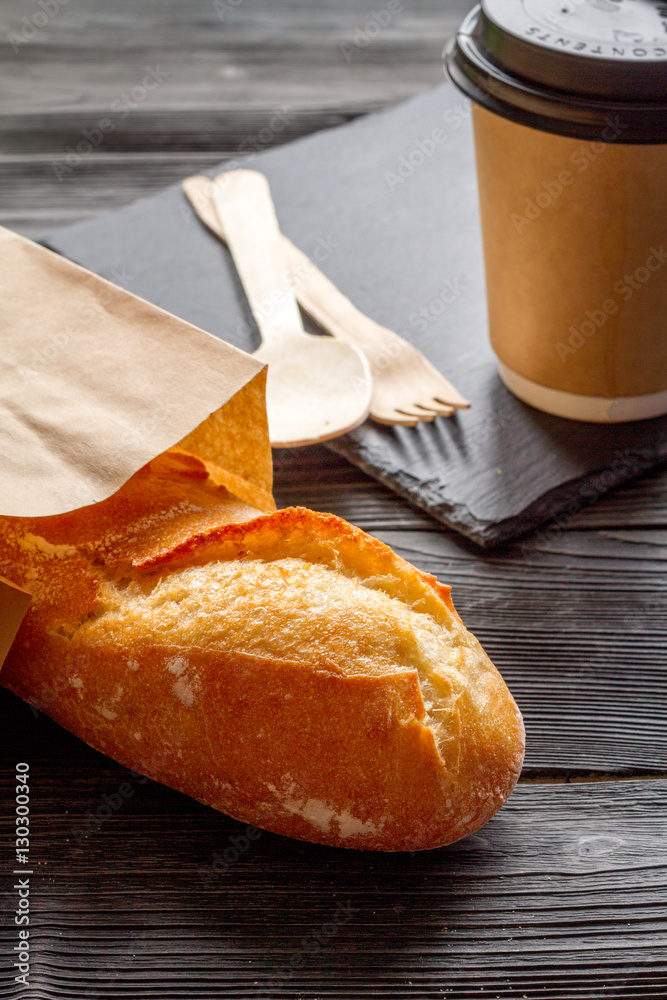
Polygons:
M482 0L444 55L464 94L522 125L667 142L667 0Z

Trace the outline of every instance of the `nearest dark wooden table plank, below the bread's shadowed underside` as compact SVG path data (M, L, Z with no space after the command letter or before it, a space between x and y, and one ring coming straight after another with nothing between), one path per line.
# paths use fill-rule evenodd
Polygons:
M20 753L31 998L664 996L667 781L523 785L458 844L370 855L250 841L101 758L74 770L29 739ZM5 843L12 825L6 807ZM3 922L7 953L15 930ZM11 975L0 995L23 1000Z

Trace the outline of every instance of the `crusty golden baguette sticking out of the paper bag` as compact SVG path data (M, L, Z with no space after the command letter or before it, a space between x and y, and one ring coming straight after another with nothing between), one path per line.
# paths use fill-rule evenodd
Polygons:
M237 819L418 850L519 775L521 716L449 588L337 517L248 507L190 456L83 511L0 518L0 574L34 594L2 683Z

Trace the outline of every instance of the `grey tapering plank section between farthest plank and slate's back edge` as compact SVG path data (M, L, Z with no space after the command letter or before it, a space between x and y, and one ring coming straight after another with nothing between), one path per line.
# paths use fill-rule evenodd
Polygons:
M366 110L366 109L364 109ZM126 205L190 173L348 121L355 108L297 112L0 115L0 224L26 236ZM102 133L101 121L113 129ZM106 127L106 126L105 126ZM88 137L88 138L86 138ZM90 141L92 139L92 141Z

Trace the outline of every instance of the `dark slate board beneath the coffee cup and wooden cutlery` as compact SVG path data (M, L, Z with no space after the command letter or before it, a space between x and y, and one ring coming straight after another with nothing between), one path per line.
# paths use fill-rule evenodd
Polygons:
M449 84L245 164L269 178L283 231L473 402L417 428L367 421L335 451L484 546L567 516L667 458L667 417L578 423L539 413L500 382L470 109ZM178 186L45 242L238 347L259 345L231 258Z

